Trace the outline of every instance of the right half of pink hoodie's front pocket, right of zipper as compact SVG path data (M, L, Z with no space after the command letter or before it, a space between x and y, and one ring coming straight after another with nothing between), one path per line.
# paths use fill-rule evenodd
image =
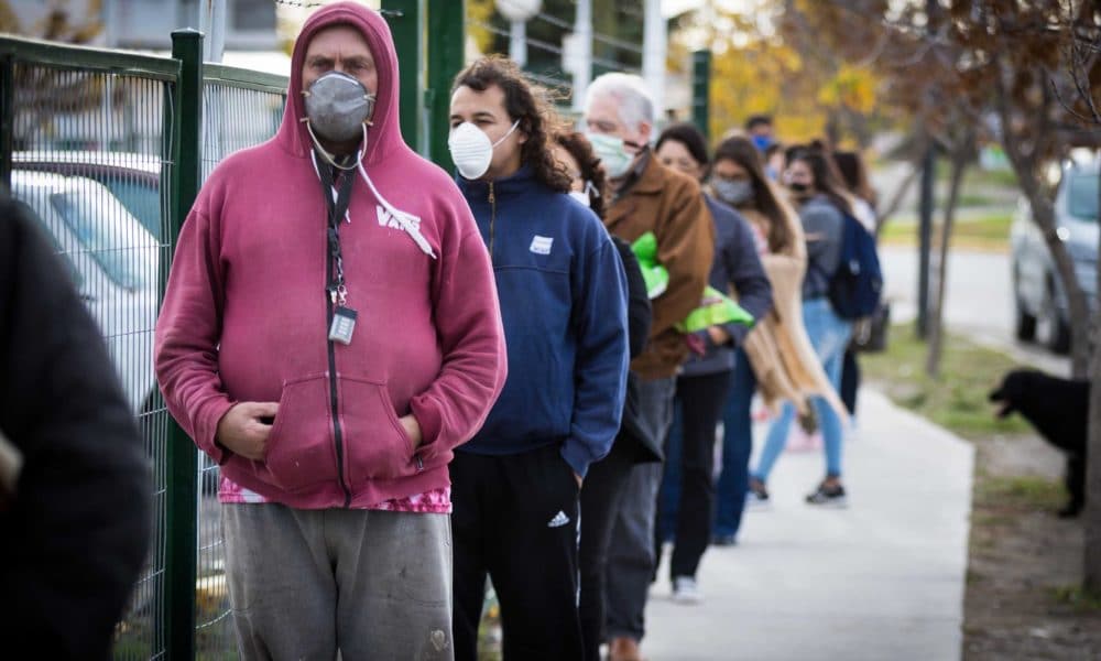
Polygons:
M348 457L348 484L413 473L413 443L397 421L385 383L338 376L340 425Z

